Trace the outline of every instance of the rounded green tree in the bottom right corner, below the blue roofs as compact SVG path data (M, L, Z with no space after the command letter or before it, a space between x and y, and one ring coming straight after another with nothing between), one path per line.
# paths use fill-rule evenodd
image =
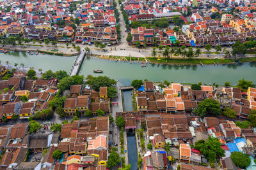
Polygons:
M236 164L236 166L240 168L248 167L251 164L250 157L242 152L232 152L230 158L232 159L234 164Z

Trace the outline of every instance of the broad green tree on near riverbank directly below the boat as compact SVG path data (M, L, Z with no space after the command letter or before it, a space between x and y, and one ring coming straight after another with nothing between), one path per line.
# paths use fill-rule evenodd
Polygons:
M108 78L107 76L87 76L86 84L92 85L92 89L99 92L100 87L110 87L116 83L115 80Z

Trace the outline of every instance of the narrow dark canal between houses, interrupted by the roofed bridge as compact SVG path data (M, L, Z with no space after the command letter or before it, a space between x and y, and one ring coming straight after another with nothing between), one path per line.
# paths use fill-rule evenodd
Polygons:
M124 99L124 110L133 111L132 107L132 90L123 90L123 99ZM128 160L131 164L131 169L138 169L138 155L137 155L137 146L136 138L134 133L127 132L127 149L128 149Z

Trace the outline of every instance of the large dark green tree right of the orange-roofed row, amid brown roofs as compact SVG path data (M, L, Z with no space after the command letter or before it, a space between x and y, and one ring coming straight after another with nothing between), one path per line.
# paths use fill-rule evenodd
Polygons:
M195 108L194 112L200 117L205 115L218 116L221 113L220 103L214 99L205 99L198 104L198 108Z

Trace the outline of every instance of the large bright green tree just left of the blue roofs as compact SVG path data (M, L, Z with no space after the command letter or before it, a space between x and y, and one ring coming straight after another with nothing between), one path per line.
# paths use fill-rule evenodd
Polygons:
M223 157L225 151L221 148L221 143L218 138L209 138L204 141L199 140L195 143L194 148L196 150L200 150L201 154L205 155L205 158L209 160L209 162L215 162L218 157Z

